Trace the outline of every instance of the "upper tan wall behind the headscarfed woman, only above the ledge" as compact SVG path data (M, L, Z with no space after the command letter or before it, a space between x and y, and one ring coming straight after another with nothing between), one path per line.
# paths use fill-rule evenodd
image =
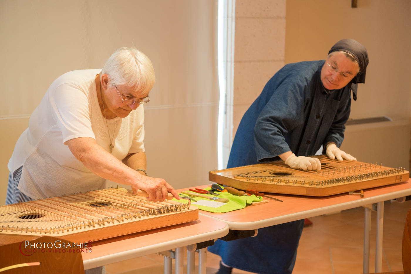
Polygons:
M287 0L286 63L325 59L330 47L356 39L369 53L366 84L351 118L410 117L411 1Z

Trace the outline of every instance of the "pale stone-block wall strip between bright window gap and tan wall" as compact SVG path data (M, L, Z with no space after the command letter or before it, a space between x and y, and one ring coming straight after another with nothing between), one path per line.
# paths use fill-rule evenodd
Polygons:
M267 81L284 66L285 0L237 0L233 134Z

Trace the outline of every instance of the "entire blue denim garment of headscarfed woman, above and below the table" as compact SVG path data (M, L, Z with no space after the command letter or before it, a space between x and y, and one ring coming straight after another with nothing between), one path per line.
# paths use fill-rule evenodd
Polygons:
M329 141L341 145L351 91L348 86L324 89L324 62L287 64L268 81L242 117L227 168L277 160L290 150L297 156L313 155ZM245 271L291 273L303 223L261 228L256 237L231 242L217 240L208 250L226 265Z

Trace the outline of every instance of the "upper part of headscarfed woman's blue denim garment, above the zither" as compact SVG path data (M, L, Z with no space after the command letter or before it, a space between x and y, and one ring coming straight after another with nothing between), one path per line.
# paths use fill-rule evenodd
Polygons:
M341 145L351 92L323 88L324 62L287 64L272 76L241 119L227 167L278 160L290 150L314 155L327 142Z

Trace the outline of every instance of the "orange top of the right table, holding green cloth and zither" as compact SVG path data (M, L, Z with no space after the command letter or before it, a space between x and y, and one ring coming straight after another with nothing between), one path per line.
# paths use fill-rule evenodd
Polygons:
M209 187L209 185L198 188ZM179 189L185 191L187 189ZM200 214L211 216L226 222L230 229L251 230L305 219L322 214L346 210L363 205L378 203L390 199L411 195L411 179L407 182L391 184L364 190L364 198L342 193L327 197L297 196L287 194L270 194L283 202L268 200L261 205L247 205L241 210L226 213L212 213L200 210Z

